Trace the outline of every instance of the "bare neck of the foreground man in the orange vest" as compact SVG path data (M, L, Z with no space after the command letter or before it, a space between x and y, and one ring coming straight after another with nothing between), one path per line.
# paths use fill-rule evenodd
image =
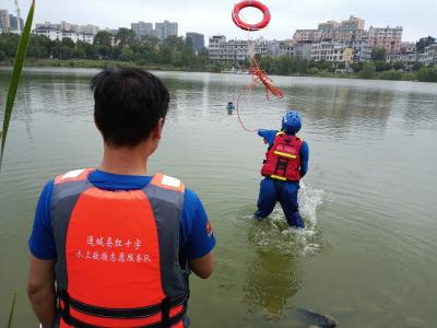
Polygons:
M145 145L137 148L113 148L105 144L99 169L119 174L145 176L150 152Z

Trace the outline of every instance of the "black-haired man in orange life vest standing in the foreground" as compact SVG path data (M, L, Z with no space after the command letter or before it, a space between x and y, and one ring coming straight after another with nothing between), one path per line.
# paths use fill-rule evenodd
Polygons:
M34 312L44 327L188 327L188 277L211 276L215 238L193 191L146 174L168 91L139 69L103 71L92 90L103 161L43 190L28 243Z

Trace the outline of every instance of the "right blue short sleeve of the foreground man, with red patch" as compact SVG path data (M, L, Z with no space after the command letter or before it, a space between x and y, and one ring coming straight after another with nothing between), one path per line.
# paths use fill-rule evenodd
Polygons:
M216 243L203 204L190 189L185 191L181 237L182 249L189 259L209 254Z

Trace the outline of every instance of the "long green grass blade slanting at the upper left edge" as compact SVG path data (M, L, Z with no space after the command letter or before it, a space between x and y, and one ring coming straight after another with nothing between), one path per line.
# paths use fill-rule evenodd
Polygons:
M35 12L35 0L32 0L32 5L31 5L31 9L27 14L26 24L24 25L23 34L21 35L19 49L16 51L16 56L15 56L15 60L14 60L14 65L13 65L12 77L11 77L11 81L9 84L8 99L7 99L7 105L4 108L3 129L2 129L2 131L0 131L0 140L1 140L0 169L1 169L1 164L3 162L4 145L7 143L9 122L11 120L12 109L13 109L13 105L15 103L16 90L19 89L19 82L20 82L21 73L23 71L24 59L26 58L26 54L27 54L27 46L28 46L28 40L31 37L31 28L32 28L32 22L34 20L34 12Z

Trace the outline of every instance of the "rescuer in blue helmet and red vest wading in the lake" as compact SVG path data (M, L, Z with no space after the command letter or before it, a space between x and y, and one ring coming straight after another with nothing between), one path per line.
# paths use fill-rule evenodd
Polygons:
M265 218L280 201L288 225L305 227L297 203L299 180L307 174L309 149L307 142L296 137L302 128L297 112L288 112L282 119L282 130L259 130L269 144L261 175L257 218Z

